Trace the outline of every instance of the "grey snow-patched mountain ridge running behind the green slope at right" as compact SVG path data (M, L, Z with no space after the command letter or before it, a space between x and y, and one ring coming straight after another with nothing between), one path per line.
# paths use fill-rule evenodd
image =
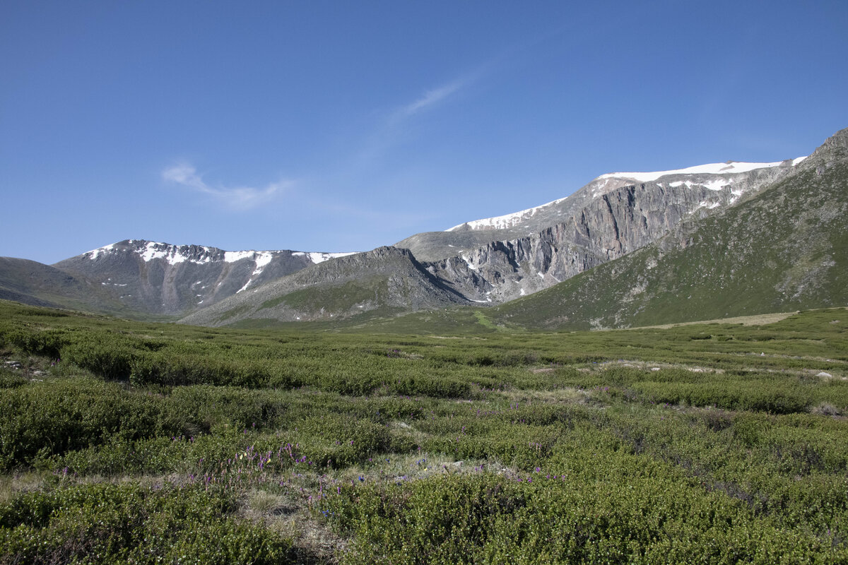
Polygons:
M509 304L657 242L684 248L701 220L756 200L799 170L827 168L840 147L828 138L808 158L601 174L568 197L371 252L124 240L40 270L0 263L0 297L209 325ZM62 274L70 277L64 286Z

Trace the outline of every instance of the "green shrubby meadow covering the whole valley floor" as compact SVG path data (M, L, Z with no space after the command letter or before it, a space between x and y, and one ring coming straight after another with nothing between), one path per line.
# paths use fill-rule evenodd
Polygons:
M848 562L845 308L450 315L212 330L0 302L0 562Z

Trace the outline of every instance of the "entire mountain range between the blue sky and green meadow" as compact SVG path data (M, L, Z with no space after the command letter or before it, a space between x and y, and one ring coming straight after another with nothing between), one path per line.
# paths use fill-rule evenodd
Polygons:
M809 158L602 174L554 202L369 252L126 240L0 258L0 298L187 324L359 324L476 307L600 329L848 304L848 130Z

